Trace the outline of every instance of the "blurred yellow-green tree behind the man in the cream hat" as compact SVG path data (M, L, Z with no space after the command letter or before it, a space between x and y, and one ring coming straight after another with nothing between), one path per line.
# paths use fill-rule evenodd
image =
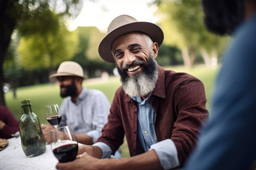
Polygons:
M58 15L52 16L52 20L47 18L48 23L58 24ZM78 35L65 29L65 25L60 22L55 29L50 29L44 34L30 33L21 37L18 46L20 64L26 70L49 68L49 74L52 74L56 66L74 56L77 45Z

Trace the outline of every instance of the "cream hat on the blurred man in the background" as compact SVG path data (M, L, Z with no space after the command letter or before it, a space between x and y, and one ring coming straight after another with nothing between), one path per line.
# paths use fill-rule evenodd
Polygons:
M87 78L83 75L83 68L78 63L71 61L62 62L57 73L50 75L49 78L67 75Z

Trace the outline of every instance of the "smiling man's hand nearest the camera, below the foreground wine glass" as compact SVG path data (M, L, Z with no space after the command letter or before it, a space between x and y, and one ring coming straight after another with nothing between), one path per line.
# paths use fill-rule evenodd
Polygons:
M83 153L76 157L76 160L67 163L57 163L58 170L103 170L103 160L91 157Z

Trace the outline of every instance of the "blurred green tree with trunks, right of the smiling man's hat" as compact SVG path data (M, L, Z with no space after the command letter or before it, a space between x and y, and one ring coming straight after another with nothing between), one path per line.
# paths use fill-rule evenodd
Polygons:
M197 53L206 65L209 53L218 55L226 40L209 33L203 23L200 0L155 0L157 12L162 15L160 25L165 33L164 43L181 49L184 65L193 66Z

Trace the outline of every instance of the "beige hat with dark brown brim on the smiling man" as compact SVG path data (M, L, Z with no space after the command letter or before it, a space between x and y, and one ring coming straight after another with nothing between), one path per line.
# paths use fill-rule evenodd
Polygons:
M119 36L133 31L146 33L153 42L157 42L158 46L160 46L164 40L164 33L156 24L138 22L129 15L120 15L109 24L108 33L99 44L98 51L101 58L106 62L115 63L111 53L112 42Z

